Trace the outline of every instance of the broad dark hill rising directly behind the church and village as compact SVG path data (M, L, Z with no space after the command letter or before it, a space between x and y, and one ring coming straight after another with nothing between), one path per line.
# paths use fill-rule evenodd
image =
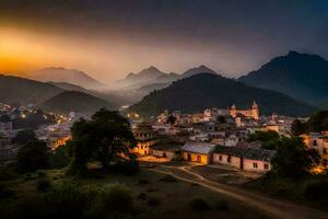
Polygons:
M249 108L253 101L259 104L262 114L307 115L316 110L288 95L212 73L200 73L173 82L163 90L150 93L129 110L143 116L156 116L164 110L196 113L208 107L226 108L232 104Z

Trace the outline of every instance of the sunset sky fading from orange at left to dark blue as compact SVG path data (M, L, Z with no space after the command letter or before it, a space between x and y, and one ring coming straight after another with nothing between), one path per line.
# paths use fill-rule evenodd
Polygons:
M328 59L326 0L1 0L0 72L110 82L155 66L238 77L289 50Z

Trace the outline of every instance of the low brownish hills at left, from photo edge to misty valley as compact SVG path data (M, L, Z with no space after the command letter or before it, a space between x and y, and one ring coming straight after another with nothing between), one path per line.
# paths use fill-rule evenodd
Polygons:
M1 103L36 104L44 110L59 113L68 111L86 113L103 106L112 110L118 108L119 100L119 96L86 90L70 83L45 83L0 74Z

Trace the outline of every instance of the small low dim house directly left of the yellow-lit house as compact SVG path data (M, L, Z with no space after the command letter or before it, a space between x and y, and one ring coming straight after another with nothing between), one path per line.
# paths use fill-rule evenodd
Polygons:
M167 160L174 160L179 157L179 150L181 145L172 145L172 143L161 143L152 146L150 149L150 154L159 158L167 158Z

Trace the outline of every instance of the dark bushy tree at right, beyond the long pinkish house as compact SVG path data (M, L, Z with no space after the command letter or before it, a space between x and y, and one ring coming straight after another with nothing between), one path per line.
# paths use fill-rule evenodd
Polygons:
M319 160L319 154L315 150L307 150L302 138L282 137L278 141L272 164L273 171L280 176L300 177L308 174Z

